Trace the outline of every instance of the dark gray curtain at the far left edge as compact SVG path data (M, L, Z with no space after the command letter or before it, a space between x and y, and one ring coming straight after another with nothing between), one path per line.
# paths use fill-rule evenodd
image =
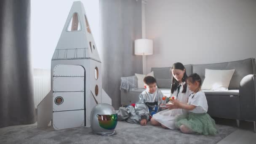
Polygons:
M0 128L35 123L29 28L30 0L0 1Z

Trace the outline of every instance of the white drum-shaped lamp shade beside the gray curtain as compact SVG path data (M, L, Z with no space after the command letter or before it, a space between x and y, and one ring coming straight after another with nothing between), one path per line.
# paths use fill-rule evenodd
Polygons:
M152 55L153 54L153 40L138 39L134 42L136 55Z

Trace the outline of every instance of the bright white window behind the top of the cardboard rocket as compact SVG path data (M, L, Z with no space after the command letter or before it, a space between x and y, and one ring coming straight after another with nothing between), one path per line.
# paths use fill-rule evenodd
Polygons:
M30 47L33 68L51 69L53 52L74 1L77 0L31 0ZM99 47L99 0L80 1Z

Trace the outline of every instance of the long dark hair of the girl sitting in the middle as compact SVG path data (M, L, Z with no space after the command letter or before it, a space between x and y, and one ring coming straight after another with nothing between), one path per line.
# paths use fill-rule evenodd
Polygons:
M184 70L185 67L183 64L181 64L180 62L176 62L173 64L173 66L171 67L171 70L172 69L180 69L180 70ZM172 74L171 74L172 75ZM182 83L182 86L183 86L183 90L182 90L182 93L186 93L187 91L187 72L185 70L184 72L184 75L182 77L182 82L185 82L185 84ZM178 80L176 80L173 75L172 75L172 83L171 83L171 93L173 93L179 86L179 82Z

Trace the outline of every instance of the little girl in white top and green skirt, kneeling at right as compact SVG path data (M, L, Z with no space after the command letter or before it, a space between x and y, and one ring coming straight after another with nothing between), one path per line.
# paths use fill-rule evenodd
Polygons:
M182 133L200 133L204 135L215 135L217 133L215 121L206 113L208 104L205 93L201 90L202 80L199 75L192 74L187 78L189 90L194 91L188 103L171 100L176 108L189 110L188 114L179 115L175 125Z

